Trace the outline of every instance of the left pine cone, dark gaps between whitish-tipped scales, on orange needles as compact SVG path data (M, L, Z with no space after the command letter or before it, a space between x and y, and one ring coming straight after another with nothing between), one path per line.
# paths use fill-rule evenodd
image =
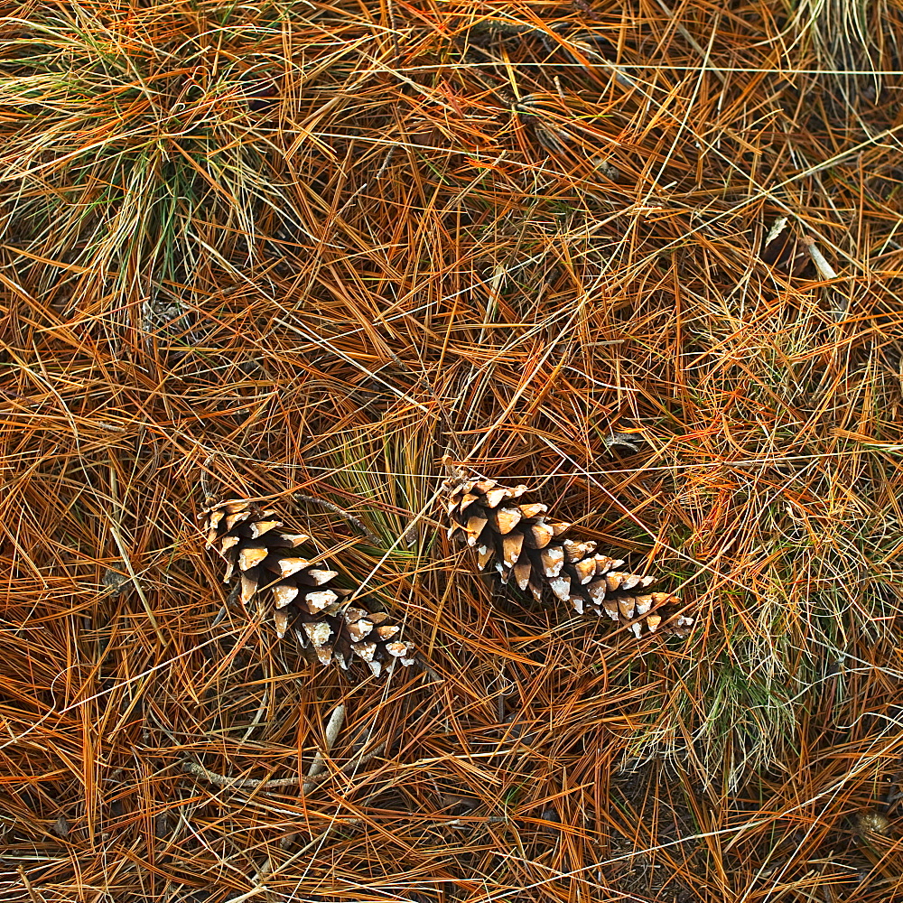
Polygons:
M414 644L401 638L401 626L385 611L371 611L345 597L351 591L335 583L339 576L328 562L312 563L294 551L310 536L280 531L275 510L265 510L243 499L228 499L200 514L207 530L207 547L216 549L228 564L224 582L238 575L240 598L255 596L273 604L276 633L283 638L295 628L303 647L323 665L342 668L358 657L374 675L396 661L414 663Z

